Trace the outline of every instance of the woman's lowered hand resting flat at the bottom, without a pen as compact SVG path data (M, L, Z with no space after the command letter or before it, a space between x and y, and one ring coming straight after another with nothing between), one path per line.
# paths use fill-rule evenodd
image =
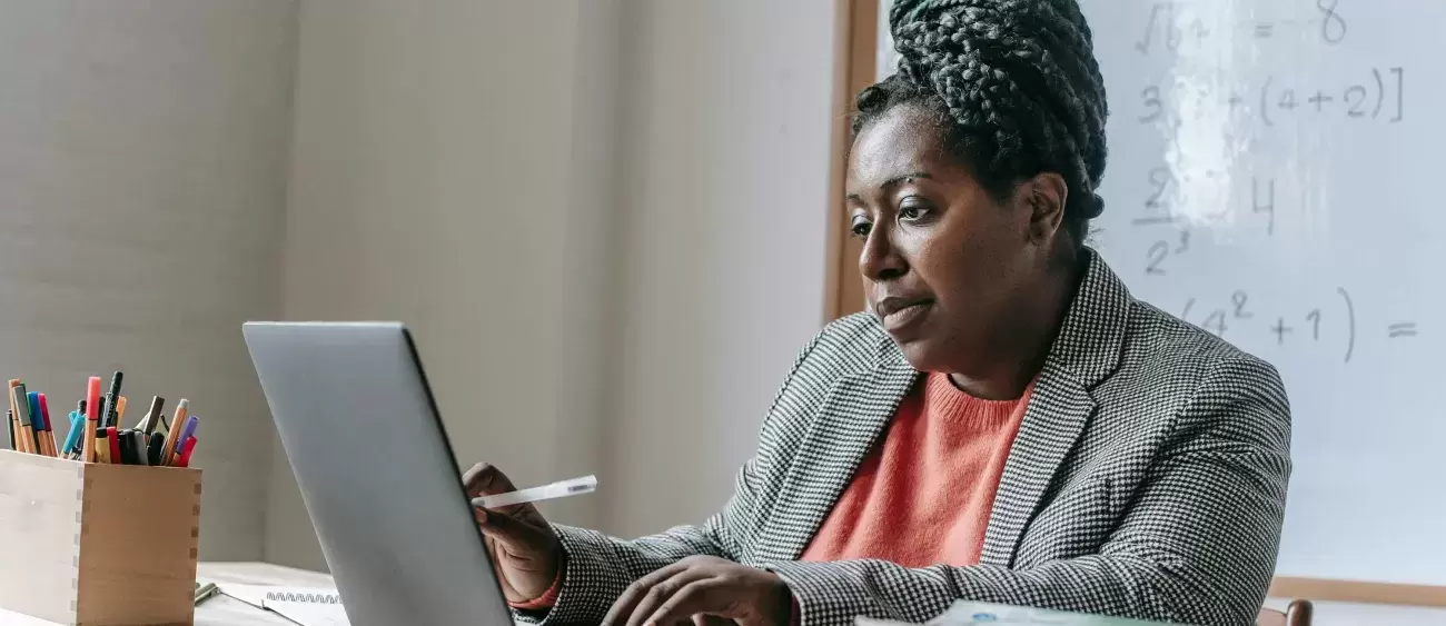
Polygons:
M628 587L603 626L710 623L788 626L792 594L778 574L717 557L688 557Z

